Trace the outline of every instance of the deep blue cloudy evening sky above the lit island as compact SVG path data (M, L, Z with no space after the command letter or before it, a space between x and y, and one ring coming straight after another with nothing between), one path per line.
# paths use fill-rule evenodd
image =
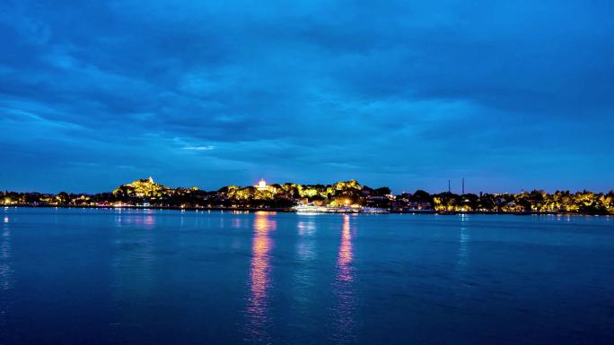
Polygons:
M0 189L609 191L612 18L597 0L4 0Z

